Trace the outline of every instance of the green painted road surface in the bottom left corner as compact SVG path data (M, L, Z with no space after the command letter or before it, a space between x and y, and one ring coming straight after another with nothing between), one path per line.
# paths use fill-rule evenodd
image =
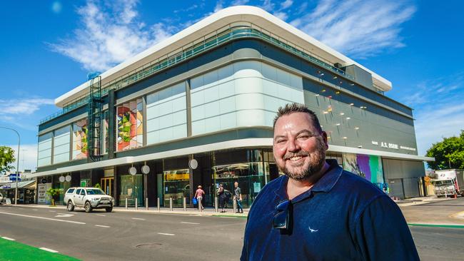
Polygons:
M24 245L20 242L5 240L0 238L0 260L21 260L21 261L36 261L36 260L78 260L74 257L68 257L58 253L41 250L37 247Z

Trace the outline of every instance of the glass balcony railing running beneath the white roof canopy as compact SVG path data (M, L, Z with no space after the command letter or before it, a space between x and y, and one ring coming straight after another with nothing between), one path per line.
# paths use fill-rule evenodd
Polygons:
M316 56L314 53L311 53L310 51L301 48L300 46L296 46L295 44L292 44L285 39L281 39L279 36L276 36L270 31L266 31L266 29L262 29L255 24L240 22L224 26L222 29L218 29L212 34L203 36L200 39L191 42L190 44L186 44L185 46L178 48L176 51L173 51L165 56L162 56L161 58L156 59L155 61L151 61L150 63L140 66L133 71L124 74L123 76L119 76L118 78L105 83L104 86L101 86L102 96L106 95L111 89L118 90L119 88L124 88L132 83L135 83L136 81L141 81L148 76L152 76L154 73L158 73L159 71L186 61L188 58L192 58L193 56L197 56L200 53L204 53L211 48L215 48L216 46L225 44L234 39L242 38L261 39L270 44L273 44L274 46L283 48L284 50L289 51L296 56L304 58L307 61L311 61L311 63L315 63L318 66L326 68L333 73L337 73L338 75L354 81L353 76L350 76L345 71L332 66L326 61L323 61L323 58ZM75 108L83 106L84 104L88 103L88 100L89 94L84 94L83 96L74 99L72 103L66 104L61 111L58 111L42 119L40 124L61 116L64 113L72 111Z

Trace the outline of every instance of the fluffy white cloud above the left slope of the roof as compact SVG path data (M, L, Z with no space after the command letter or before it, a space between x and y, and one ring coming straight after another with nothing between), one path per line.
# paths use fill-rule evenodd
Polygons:
M109 4L111 3L111 4ZM77 12L82 26L74 36L51 48L79 62L89 71L106 71L171 36L173 26L146 26L137 21L137 1L87 0Z

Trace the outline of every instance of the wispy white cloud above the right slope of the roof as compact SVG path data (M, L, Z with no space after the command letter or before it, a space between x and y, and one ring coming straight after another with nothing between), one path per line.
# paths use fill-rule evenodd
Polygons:
M400 25L414 13L401 1L322 0L291 24L337 51L365 58L403 47Z

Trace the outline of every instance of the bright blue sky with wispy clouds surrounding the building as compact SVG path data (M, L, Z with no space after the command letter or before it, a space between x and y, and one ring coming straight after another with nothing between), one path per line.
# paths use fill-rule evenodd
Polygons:
M464 129L463 1L4 1L0 126L21 135L19 170L35 169L54 99L228 6L258 6L393 83L414 109L418 154ZM17 149L13 131L0 145ZM15 163L16 166L16 163Z

